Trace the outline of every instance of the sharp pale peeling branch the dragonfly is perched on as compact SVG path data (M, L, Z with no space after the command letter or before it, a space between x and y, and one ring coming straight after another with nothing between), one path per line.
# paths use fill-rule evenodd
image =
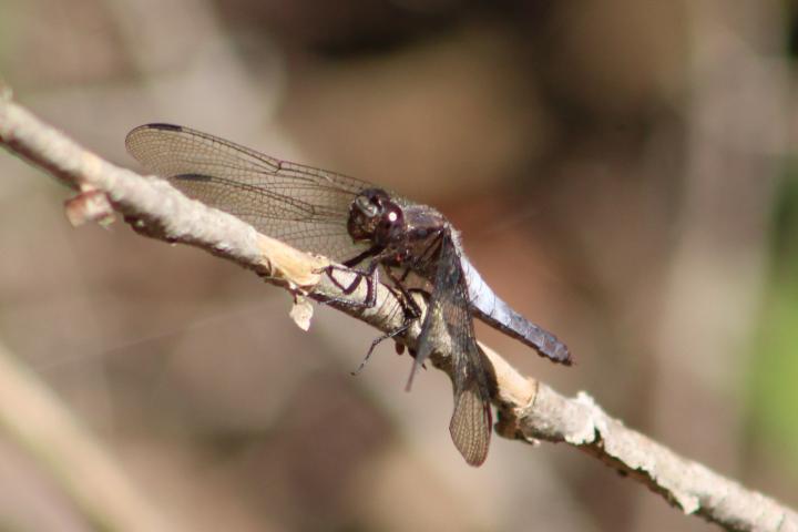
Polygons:
M293 316L300 325L306 326L309 319L306 296L319 301L335 298L351 303L365 296L362 286L346 295L329 276L320 275L329 264L324 257L258 234L234 216L187 200L163 180L143 177L103 161L8 98L0 98L0 143L80 191L66 204L73 223L106 219L113 209L142 234L190 244L234 260L289 289L297 301ZM339 282L345 284L351 275L341 272ZM372 308L331 305L382 331L395 329L403 320L393 293L383 285L377 286L377 305ZM411 328L405 341L413 347L418 334L418 326ZM795 511L624 427L586 393L565 398L520 375L491 350L485 349L485 354L495 379L493 402L499 409L497 431L501 436L528 442L540 439L569 443L642 482L683 512L727 530L798 531ZM449 370L448 360L442 341L432 364Z

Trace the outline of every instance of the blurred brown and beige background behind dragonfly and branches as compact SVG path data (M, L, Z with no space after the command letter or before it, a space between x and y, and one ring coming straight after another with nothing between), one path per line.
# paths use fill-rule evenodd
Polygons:
M577 364L480 339L792 507L796 53L789 0L0 0L0 76L90 150L174 122L439 207ZM565 446L469 468L446 376L349 375L375 330L0 175L0 344L171 530L709 530ZM58 469L3 429L0 529L93 530Z

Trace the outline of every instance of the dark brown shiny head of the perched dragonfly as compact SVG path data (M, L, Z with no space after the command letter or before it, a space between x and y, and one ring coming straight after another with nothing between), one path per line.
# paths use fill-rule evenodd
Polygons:
M347 231L354 241L388 245L405 227L401 207L381 188L361 192L349 207Z

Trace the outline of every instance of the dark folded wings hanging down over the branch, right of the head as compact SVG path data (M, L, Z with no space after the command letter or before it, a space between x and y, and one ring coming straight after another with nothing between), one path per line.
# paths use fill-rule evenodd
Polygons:
M488 457L492 431L490 389L469 311L468 288L451 236L444 235L438 270L413 370L432 351L431 338L446 329L451 338L454 412L449 423L452 441L471 466Z

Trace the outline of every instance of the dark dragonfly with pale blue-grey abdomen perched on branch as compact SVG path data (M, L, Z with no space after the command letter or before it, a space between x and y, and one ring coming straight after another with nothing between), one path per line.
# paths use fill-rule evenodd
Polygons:
M436 338L446 334L450 339L454 409L449 431L471 466L484 462L492 432L490 377L473 318L554 362L572 364L563 342L495 295L466 256L459 232L430 206L181 125L141 125L127 134L125 145L147 171L188 197L355 268L358 276L348 286L339 284L332 270L328 275L346 294L366 279L365 306L375 304L374 286L381 272L403 296L406 320L378 340L397 337L422 320L408 389L436 348ZM423 314L411 297L413 286L428 298Z

